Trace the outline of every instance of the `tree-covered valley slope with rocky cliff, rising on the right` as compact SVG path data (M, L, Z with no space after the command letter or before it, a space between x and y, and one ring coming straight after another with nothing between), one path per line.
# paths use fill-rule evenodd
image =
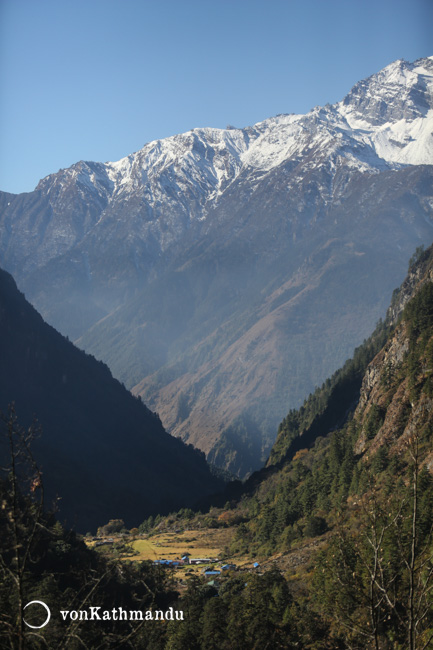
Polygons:
M290 608L290 647L431 647L433 247L418 258L386 322L289 412L268 467L231 484L208 515L232 522L233 561L248 554L264 576L283 573L288 594L263 596L258 611ZM227 593L220 578L220 599ZM197 614L203 629L209 611Z

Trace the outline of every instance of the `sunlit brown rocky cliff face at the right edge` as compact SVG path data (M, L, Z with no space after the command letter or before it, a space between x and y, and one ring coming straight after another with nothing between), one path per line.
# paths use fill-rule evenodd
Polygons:
M405 308L405 309L404 309ZM354 413L360 435L355 453L381 448L400 454L410 440L430 437L433 422L433 252L404 283L390 316L403 314L386 345L365 373ZM423 444L423 463L433 453Z

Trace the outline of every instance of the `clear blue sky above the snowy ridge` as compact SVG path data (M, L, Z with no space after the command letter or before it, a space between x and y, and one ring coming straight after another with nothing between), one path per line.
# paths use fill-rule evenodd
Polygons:
M433 0L0 0L0 189L432 54Z

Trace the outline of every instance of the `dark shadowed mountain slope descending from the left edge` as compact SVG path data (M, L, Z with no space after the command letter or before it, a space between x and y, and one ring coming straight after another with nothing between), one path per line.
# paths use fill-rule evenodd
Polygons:
M25 426L38 418L33 451L47 502L59 495L69 525L136 524L220 487L201 452L169 436L104 364L44 323L2 270L0 333L0 408L15 402Z

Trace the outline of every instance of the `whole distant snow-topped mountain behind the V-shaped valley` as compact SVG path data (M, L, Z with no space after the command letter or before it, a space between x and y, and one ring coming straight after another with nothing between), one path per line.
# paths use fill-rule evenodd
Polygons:
M433 239L433 58L0 197L0 262L174 435L244 475Z

